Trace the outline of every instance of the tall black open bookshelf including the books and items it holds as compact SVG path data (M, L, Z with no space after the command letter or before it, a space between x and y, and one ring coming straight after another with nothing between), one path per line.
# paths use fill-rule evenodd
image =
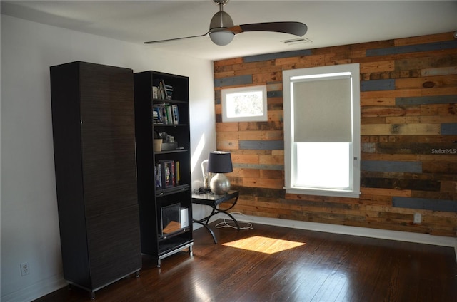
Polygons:
M160 266L176 252L192 254L194 244L189 78L144 71L134 74L134 85L141 251Z

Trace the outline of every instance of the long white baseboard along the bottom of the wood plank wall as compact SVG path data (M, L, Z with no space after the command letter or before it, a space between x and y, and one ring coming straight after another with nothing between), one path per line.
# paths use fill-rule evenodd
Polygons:
M257 217L243 214L231 213L240 222L251 222L268 224L277 227L290 227L292 229L306 229L309 231L324 231L333 234L344 234L363 236L377 239L388 239L396 241L413 242L418 244L433 244L437 246L450 246L454 248L457 261L457 238L446 236L433 236L430 234L411 233L408 231L388 231L383 229L370 229L365 227L350 227L339 224L323 224L318 222L300 222L296 220ZM221 218L228 218L226 215L215 215L211 221Z

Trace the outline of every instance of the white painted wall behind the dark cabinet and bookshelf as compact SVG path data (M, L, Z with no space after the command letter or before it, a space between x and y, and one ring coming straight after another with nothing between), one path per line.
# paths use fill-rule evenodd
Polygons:
M65 286L52 146L49 66L86 61L189 76L194 189L216 150L211 61L1 15L1 301ZM201 143L204 138L204 143ZM205 209L194 207L194 217ZM30 274L21 276L19 264Z

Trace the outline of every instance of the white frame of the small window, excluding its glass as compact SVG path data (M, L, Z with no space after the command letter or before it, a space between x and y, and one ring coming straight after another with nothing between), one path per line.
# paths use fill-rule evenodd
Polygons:
M227 116L227 95L232 93L243 93L260 91L262 93L263 115L256 116ZM221 90L221 107L222 107L222 121L223 122L264 122L268 120L268 105L266 100L266 85L246 86L238 88L226 88Z

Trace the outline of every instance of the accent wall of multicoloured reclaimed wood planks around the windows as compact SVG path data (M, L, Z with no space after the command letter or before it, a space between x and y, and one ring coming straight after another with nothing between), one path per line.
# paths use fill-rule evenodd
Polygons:
M361 66L361 196L286 194L282 71ZM214 62L218 150L235 210L260 217L457 236L457 40L453 33ZM221 89L265 84L268 121L221 122ZM413 214L422 223L413 223Z

